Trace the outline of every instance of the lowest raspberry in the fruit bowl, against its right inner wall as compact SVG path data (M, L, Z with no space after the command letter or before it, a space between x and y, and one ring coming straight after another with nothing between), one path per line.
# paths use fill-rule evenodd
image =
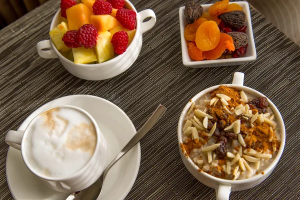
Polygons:
M123 52L125 52L127 45L128 45L127 32L124 30L115 32L112 35L111 43L113 46L113 50L116 54L122 54Z

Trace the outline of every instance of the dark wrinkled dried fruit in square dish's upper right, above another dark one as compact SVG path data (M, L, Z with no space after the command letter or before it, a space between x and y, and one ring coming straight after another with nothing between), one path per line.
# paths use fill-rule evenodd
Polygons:
M246 15L242 10L224 12L217 17L224 21L225 24L228 24L229 26L234 28L241 27L246 19Z

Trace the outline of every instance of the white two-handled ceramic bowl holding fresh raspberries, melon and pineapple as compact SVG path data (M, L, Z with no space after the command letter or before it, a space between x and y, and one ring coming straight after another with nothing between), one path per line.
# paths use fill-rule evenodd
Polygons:
M135 7L128 0L125 0L125 7L137 13ZM143 22L147 17L151 18ZM59 9L52 19L50 30L56 27L61 20ZM98 64L75 64L73 61L61 55L51 39L39 41L36 44L36 48L39 56L43 58L58 58L66 70L79 78L86 80L103 80L124 72L133 64L141 49L142 34L151 29L155 22L156 16L153 10L145 9L138 12L136 14L136 32L126 51L108 61Z

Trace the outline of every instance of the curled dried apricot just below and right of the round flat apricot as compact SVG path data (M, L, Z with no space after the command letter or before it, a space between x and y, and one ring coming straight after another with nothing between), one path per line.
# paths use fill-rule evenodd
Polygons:
M208 51L203 51L202 56L205 57L206 59L217 59L219 58L222 53L224 52L225 49L228 50L235 50L234 44L233 44L233 39L230 35L221 32L220 33L220 40L217 44L217 46Z

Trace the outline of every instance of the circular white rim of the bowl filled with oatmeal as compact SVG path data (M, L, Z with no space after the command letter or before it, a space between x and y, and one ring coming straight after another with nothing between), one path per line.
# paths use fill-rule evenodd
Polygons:
M254 94L256 96L265 96L263 95L262 93L260 93L259 91L256 91L255 89L252 89L250 87L247 87L247 86L243 86L243 85L237 85L237 84L220 84L220 85L224 85L224 86L228 86L228 87L236 87L236 88L245 88L246 90L250 90L251 94ZM215 86L212 86L212 87L208 87L202 91L200 91L199 93L197 93L195 96L193 96L190 101L184 106L181 114L180 114L180 117L179 117L179 121L178 121L178 126L177 126L177 138L178 138L178 144L180 146L180 143L183 143L182 142L182 136L181 136L181 133L182 133L182 122L183 122L183 119L184 119L184 115L186 114L186 112L188 111L189 107L190 107L190 104L192 101L198 99L200 96L202 96L203 94L207 93L207 92L210 92L212 91L213 89L217 88L218 86L220 85L215 85ZM245 90L245 91L246 91ZM268 98L267 98L268 99ZM227 184L238 184L238 183L247 183L247 182L251 182L253 180L257 180L260 178L260 176L265 176L265 174L268 174L269 171L271 171L275 165L277 164L277 162L279 161L280 157L281 157L281 154L283 152L283 148L284 148L284 144L285 144L285 128L284 128L284 122L283 122L283 118L279 112L279 110L277 109L277 107L274 105L274 103L272 101L270 101L270 99L268 99L268 104L269 106L271 107L273 113L275 114L276 116L276 122L278 124L280 124L280 136L281 136L281 141L280 141L280 147L278 149L278 152L277 152L277 155L276 157L274 158L274 160L268 165L268 167L266 167L266 169L264 169L264 174L256 174L252 177L249 177L249 178L245 178L245 179L241 179L241 180L226 180L226 179L222 179L222 178L217 178L213 175L209 175L208 173L204 172L204 171L199 171L199 173L201 173L202 175L204 175L205 177L209 178L209 179L212 179L216 182L221 182L221 183L227 183ZM179 148L179 150L181 151L180 153L183 153L181 148ZM184 152L186 153L185 149L184 149ZM199 167L197 165L195 165L193 163L193 161L190 159L189 156L185 156L184 153L183 153L183 159L187 159L187 161L189 162L189 164L195 169L195 170L198 170Z

